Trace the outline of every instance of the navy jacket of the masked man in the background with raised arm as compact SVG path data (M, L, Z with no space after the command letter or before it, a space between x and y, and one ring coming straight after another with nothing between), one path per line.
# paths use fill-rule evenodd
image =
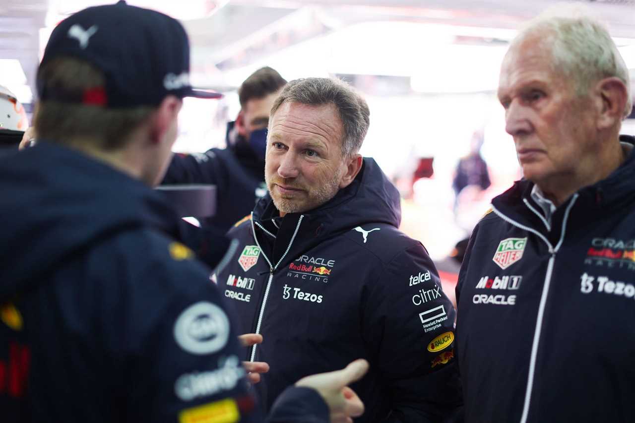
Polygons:
M204 153L175 154L161 184L212 184L216 186L216 214L201 223L218 234L225 234L236 221L248 215L266 192L265 162L248 142L239 137L234 144L227 124L226 149Z

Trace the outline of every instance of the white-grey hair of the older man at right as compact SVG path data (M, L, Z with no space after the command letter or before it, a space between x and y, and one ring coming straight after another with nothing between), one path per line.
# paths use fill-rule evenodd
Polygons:
M552 67L565 72L580 96L587 95L593 83L618 77L626 86L627 102L623 117L632 109L629 70L606 27L580 6L555 6L530 20L512 46L527 36L545 34L545 48L551 49Z

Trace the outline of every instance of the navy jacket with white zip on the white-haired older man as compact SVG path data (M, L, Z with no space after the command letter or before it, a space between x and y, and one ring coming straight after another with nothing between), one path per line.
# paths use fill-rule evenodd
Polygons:
M521 180L457 285L465 421L635 422L635 154L551 223Z

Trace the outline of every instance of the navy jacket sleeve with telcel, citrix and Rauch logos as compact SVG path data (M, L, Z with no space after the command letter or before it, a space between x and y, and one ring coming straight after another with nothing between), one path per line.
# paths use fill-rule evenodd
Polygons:
M420 243L385 265L364 315L371 367L379 370L392 399L384 422L450 419L462 404L453 352L455 310Z

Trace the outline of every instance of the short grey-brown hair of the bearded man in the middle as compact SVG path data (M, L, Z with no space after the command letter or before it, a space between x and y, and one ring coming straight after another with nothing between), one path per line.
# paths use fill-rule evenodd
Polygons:
M307 105L333 104L344 126L342 154L352 157L361 144L370 125L370 110L366 100L349 84L335 78L300 78L290 81L271 107L271 116L284 103Z

